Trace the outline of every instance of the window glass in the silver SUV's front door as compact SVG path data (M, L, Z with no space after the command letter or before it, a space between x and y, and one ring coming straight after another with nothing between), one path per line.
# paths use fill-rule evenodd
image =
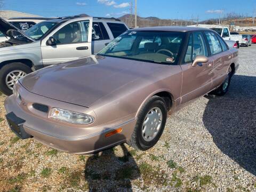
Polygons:
M81 43L88 41L88 21L75 21L68 23L58 30L53 37L57 39L57 44Z

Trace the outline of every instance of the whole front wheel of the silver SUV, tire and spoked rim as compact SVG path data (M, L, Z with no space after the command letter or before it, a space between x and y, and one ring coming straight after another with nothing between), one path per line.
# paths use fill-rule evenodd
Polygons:
M24 63L13 62L3 66L0 69L0 91L6 95L11 95L14 83L31 72L30 67Z

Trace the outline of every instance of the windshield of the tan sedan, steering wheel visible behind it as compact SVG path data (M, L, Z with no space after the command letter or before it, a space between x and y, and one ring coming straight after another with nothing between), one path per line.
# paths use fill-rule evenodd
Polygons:
M170 64L177 61L185 33L126 31L98 54L131 60Z

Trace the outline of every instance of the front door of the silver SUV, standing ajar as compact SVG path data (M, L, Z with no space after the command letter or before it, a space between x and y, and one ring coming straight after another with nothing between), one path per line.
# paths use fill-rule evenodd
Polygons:
M47 45L47 39L51 36L57 41L56 45ZM44 65L91 55L91 39L92 18L66 22L43 39L41 49Z

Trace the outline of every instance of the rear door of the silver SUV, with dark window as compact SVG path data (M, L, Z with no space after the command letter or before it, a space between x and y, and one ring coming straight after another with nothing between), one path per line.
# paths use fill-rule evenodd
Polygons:
M92 54L98 53L111 41L102 22L92 23Z

